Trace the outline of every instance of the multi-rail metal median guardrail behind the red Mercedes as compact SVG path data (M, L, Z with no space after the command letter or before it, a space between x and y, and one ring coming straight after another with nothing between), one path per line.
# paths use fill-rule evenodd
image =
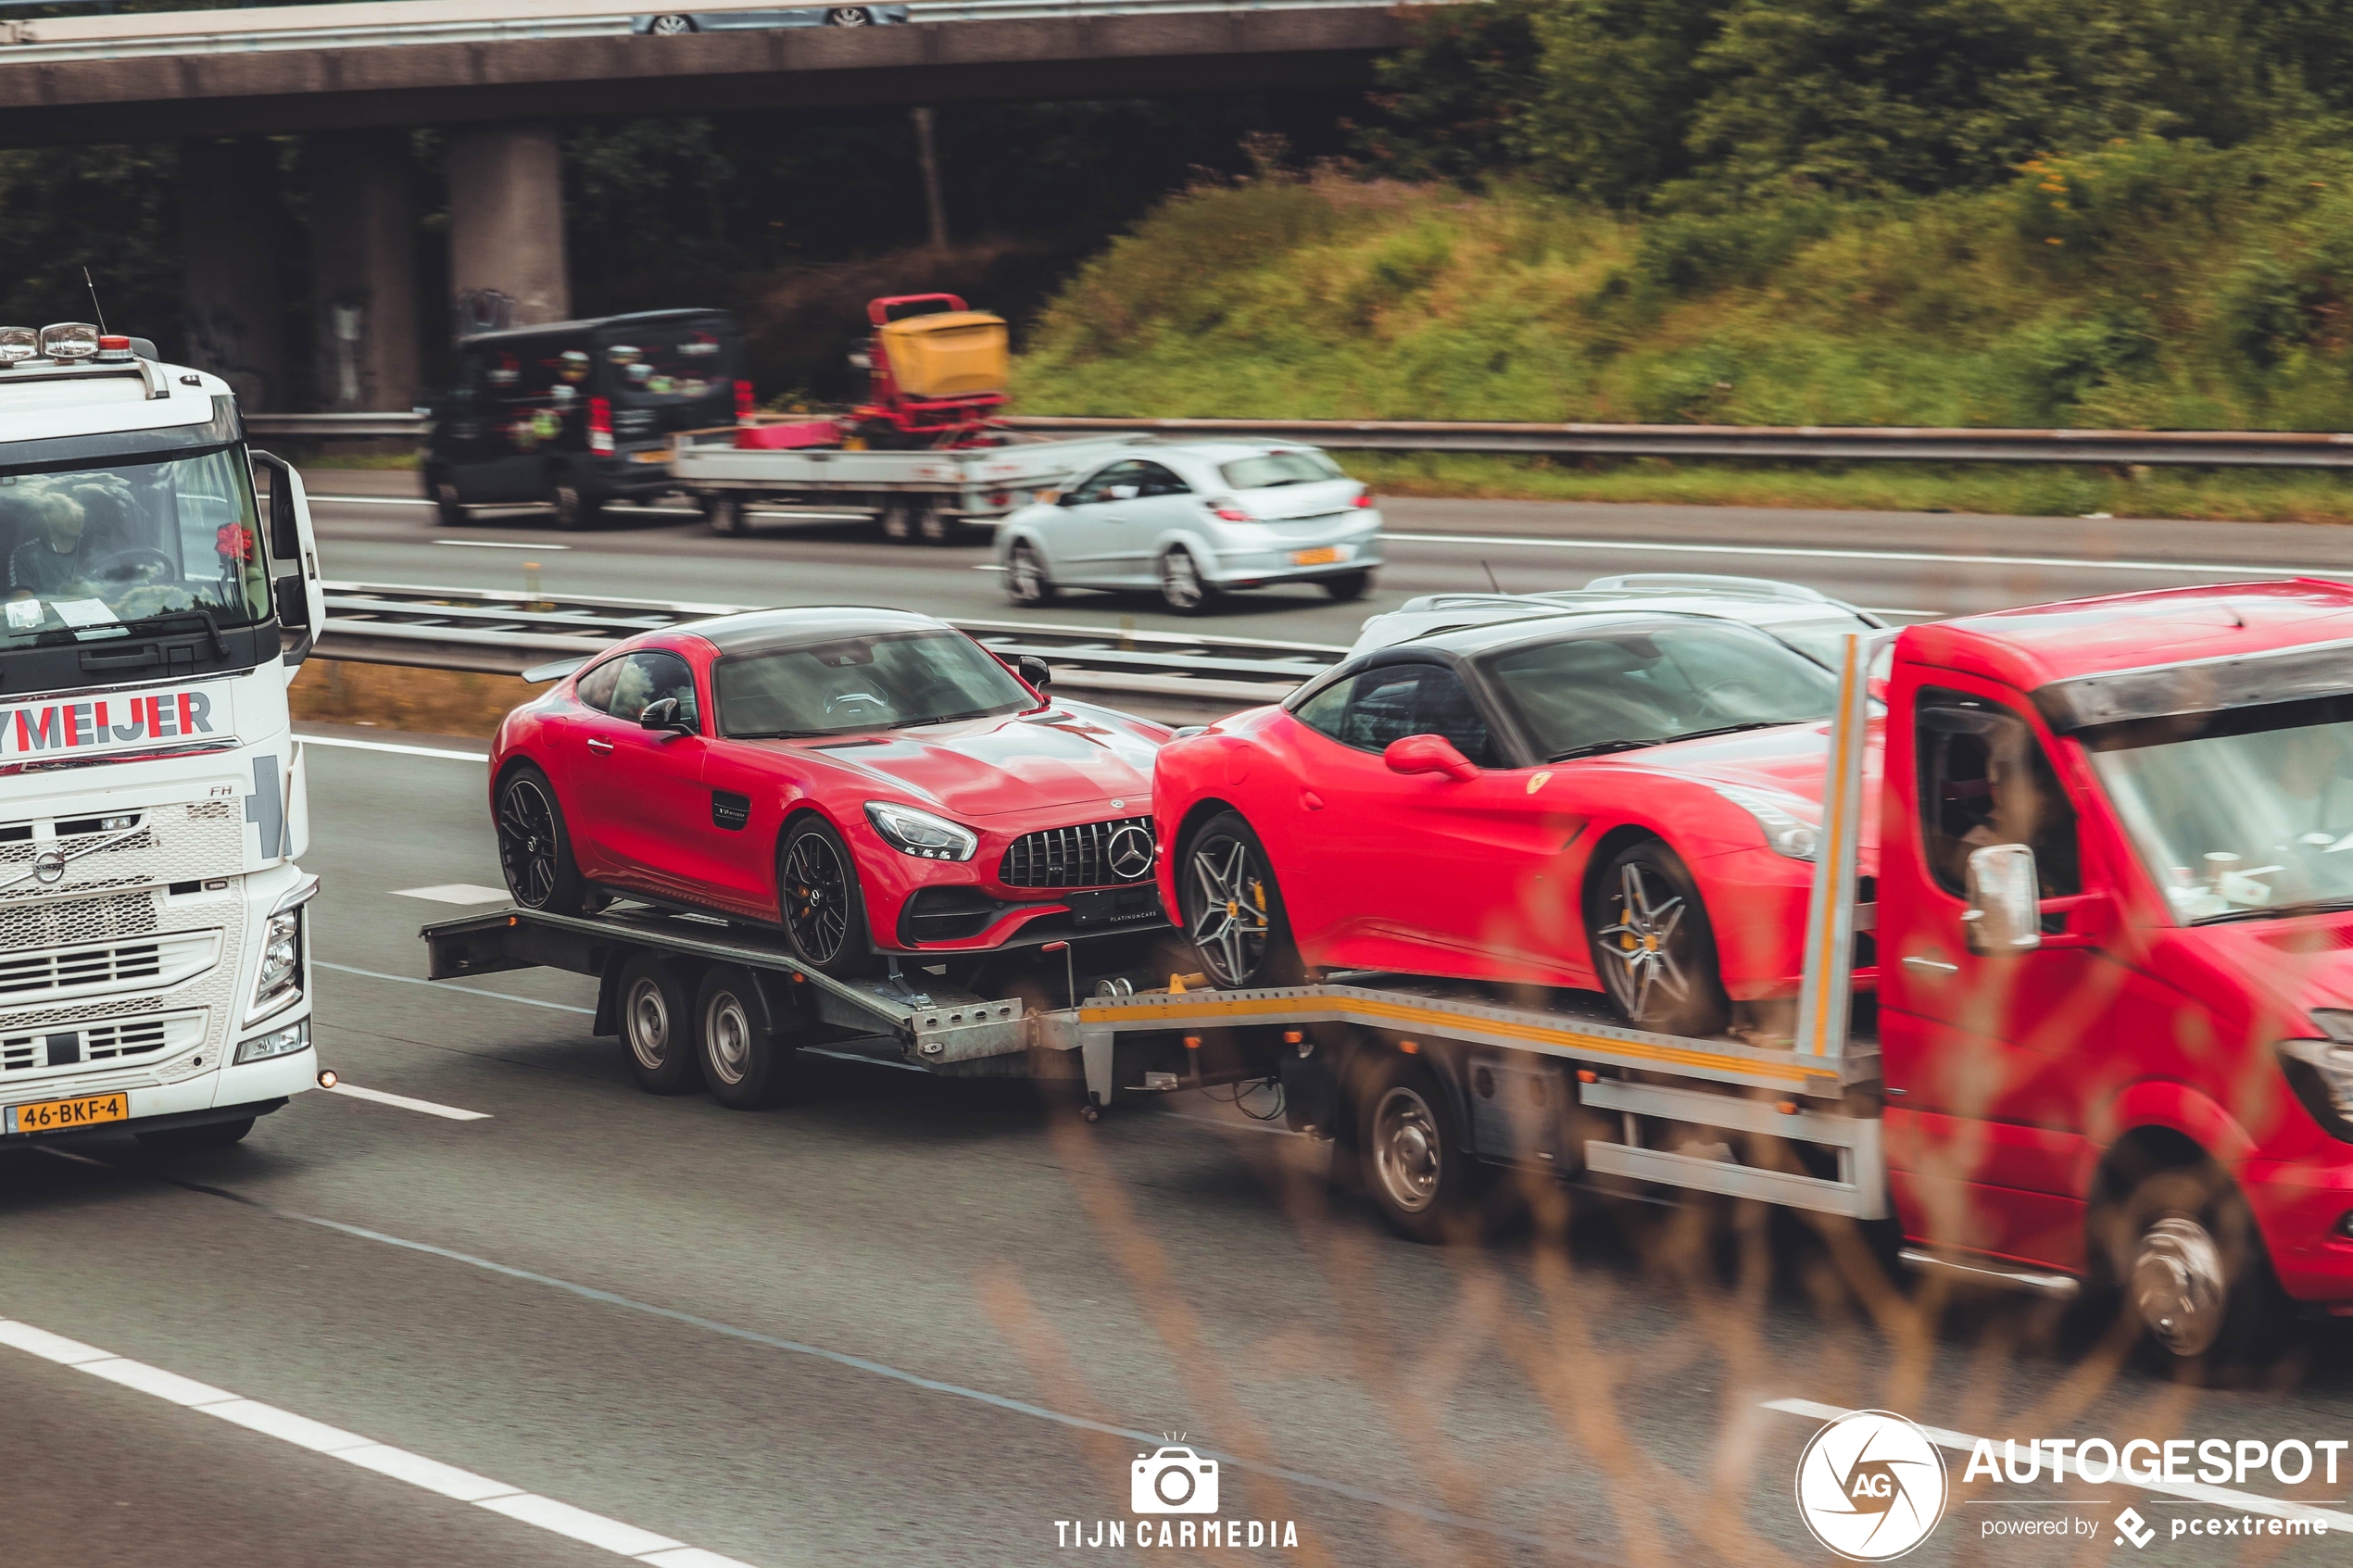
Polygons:
M591 658L624 637L729 616L751 604L541 597L482 588L327 583L322 658L520 675L560 658ZM1033 654L1059 691L1186 698L1205 708L1278 703L1346 658L1322 642L1198 637L1099 625L955 621L988 649Z

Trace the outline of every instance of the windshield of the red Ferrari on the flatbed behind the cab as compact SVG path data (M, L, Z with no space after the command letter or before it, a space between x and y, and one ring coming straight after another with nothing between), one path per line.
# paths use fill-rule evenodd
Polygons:
M1595 628L1485 670L1548 762L1826 719L1838 696L1828 670L1729 623Z

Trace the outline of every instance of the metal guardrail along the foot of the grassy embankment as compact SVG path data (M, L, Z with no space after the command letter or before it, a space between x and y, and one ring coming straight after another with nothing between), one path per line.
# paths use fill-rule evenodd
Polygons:
M421 414L252 414L256 435L421 440ZM1489 451L1666 458L2115 463L2193 468L2353 468L2334 430L1941 430L1894 425L1525 425L1395 418L1087 418L1014 416L1021 435L1162 435L1311 442L1334 451Z

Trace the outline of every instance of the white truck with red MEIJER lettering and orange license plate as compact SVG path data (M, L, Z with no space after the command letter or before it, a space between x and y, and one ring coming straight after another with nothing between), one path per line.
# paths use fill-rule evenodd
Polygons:
M0 327L0 1147L235 1143L320 1077L301 480L144 339Z

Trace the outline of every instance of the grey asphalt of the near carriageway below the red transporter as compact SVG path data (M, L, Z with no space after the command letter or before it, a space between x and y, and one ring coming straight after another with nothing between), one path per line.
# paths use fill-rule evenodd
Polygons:
M1297 1528L1181 1561L1824 1563L1791 1505L1817 1422L1765 1401L2353 1436L2344 1324L2278 1387L2205 1394L2009 1298L1864 1309L1802 1225L1711 1251L1685 1246L1708 1215L1584 1208L1419 1248L1327 1192L1320 1145L1205 1095L1087 1126L1021 1084L828 1063L774 1112L654 1100L584 980L416 978L416 924L454 907L400 891L496 884L478 762L315 745L311 790L325 1060L478 1119L308 1093L181 1164L0 1154L0 1319L207 1385L0 1328L0 1563L1082 1561L1056 1521L1132 1530L1155 1434L1221 1455L1221 1519ZM2294 1490L2341 1509L2353 1474ZM1911 1561L2080 1563L2125 1505L2160 1533L2231 1512L1988 1495ZM2061 1516L2097 1540L1981 1535ZM2344 1561L2275 1544L2153 1556Z

